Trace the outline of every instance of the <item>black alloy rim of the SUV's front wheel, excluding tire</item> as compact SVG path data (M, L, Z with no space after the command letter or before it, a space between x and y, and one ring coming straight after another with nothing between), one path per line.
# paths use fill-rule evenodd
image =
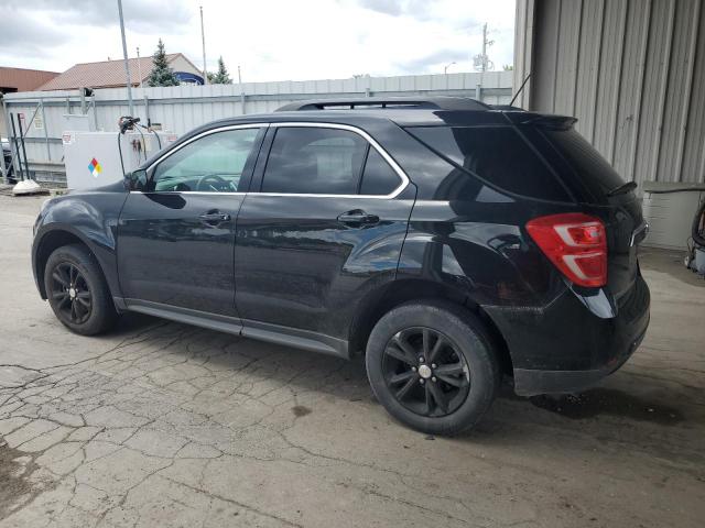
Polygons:
M58 311L74 324L90 318L93 295L86 277L70 262L62 262L52 271L52 298Z

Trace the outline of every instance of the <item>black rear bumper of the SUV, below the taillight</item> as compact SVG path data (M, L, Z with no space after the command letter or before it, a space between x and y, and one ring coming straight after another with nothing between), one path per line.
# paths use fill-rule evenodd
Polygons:
M543 308L486 308L509 346L520 396L573 393L618 370L644 338L649 288L639 274L619 300L567 289Z

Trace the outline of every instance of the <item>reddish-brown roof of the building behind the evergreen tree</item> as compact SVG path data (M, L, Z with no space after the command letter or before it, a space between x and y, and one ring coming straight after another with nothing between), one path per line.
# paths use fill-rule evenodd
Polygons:
M171 64L180 56L193 65L181 53L166 54L166 62ZM152 56L128 58L128 62L130 64L130 80L133 86L139 86L140 81L145 80L152 72ZM195 66L194 69L198 70ZM117 88L121 86L126 86L124 61L116 59L76 64L39 89L74 90L77 88Z

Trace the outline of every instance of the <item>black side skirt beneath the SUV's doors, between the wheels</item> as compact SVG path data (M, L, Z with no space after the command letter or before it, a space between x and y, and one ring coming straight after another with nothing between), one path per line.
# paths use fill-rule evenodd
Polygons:
M348 342L311 330L300 330L269 322L251 321L237 317L208 314L140 299L113 297L116 307L148 316L161 317L176 322L227 332L245 338L268 341L296 349L311 350L349 360Z

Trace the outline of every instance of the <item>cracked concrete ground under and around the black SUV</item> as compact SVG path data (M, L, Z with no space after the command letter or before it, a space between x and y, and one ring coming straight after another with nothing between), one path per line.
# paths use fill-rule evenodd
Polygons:
M0 196L0 527L702 527L705 280L646 252L652 322L577 397L507 388L433 438L361 365L144 316L74 336L40 300L43 198Z

